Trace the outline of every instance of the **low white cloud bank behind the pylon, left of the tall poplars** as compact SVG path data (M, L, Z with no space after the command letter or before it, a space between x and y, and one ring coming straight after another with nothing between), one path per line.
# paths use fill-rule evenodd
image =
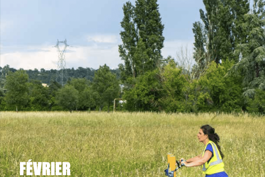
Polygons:
M8 48L8 47L5 47ZM9 65L19 69L45 70L57 69L58 51L51 46L26 46L25 49L14 49L11 52L2 52L1 67ZM67 47L65 53L66 68L78 67L98 69L107 64L111 69L117 68L122 61L119 58L118 45L91 45Z

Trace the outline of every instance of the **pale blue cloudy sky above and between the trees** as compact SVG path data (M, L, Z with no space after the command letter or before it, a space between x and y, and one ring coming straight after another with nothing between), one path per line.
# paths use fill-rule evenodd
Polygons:
M128 1L128 0L127 0ZM66 68L111 69L123 63L118 45L125 0L0 0L0 66L58 69L57 40L67 40ZM135 4L135 1L131 1ZM193 52L192 25L200 21L202 0L158 0L164 48L177 59L181 48ZM64 48L59 43L59 48Z

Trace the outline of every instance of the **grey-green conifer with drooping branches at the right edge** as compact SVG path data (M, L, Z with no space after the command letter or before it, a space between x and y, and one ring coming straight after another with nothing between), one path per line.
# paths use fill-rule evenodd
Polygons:
M255 89L265 90L265 1L254 0L253 11L244 15L241 24L246 40L238 44L239 58L231 73L244 76L244 96L254 99Z

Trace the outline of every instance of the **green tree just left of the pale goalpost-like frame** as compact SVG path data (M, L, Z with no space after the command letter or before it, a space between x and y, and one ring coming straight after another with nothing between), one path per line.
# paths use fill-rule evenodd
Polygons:
M99 110L101 110L104 103L106 103L109 111L109 107L113 100L118 97L120 87L116 75L111 73L106 64L104 66L99 66L99 70L95 72L92 86L93 90L97 91L99 94L99 100L96 101Z

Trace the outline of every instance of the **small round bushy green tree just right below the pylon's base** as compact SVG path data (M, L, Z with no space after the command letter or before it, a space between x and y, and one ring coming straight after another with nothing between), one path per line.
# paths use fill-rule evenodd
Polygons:
M66 84L56 94L56 103L66 110L77 109L78 91L69 84Z

